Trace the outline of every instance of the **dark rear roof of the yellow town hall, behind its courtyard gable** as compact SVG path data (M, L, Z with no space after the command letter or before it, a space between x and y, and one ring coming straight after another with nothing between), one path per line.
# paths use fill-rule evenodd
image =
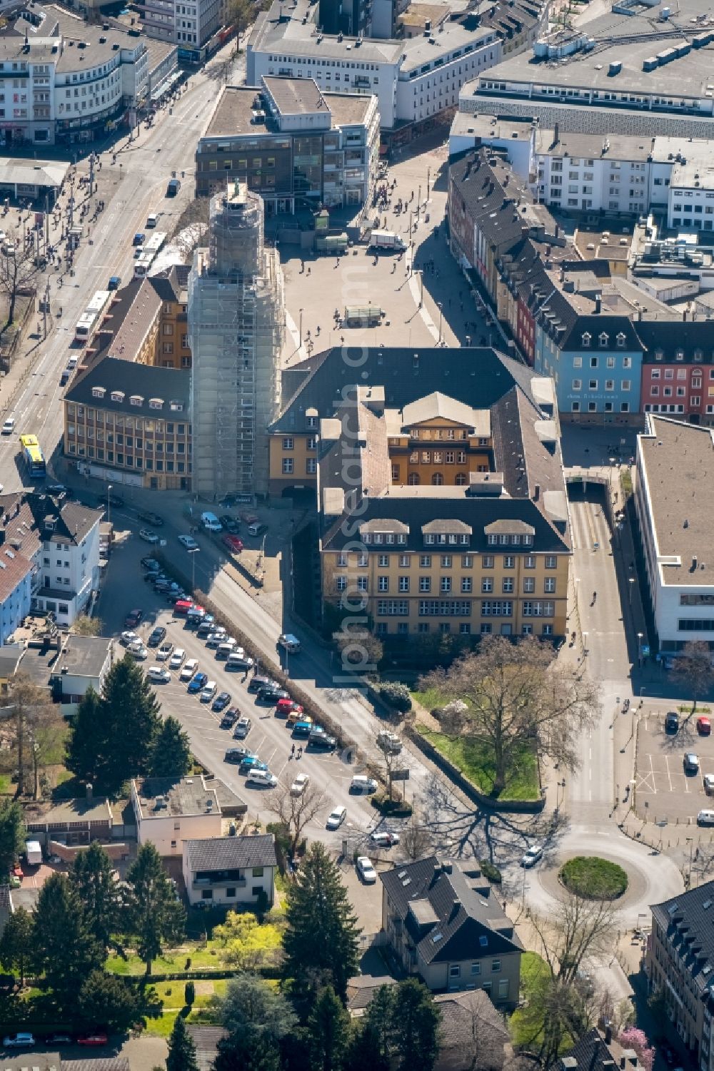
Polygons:
M415 358L418 358L416 368ZM436 391L458 396L459 402L474 409L488 409L514 384L533 402L534 376L531 368L488 347L348 346L343 351L336 346L293 365L289 376L283 376L283 396L288 402L269 431L304 431L304 412L311 407L321 419L334 417L343 388L353 383L384 387L388 409L402 409ZM292 396L291 388L295 389Z

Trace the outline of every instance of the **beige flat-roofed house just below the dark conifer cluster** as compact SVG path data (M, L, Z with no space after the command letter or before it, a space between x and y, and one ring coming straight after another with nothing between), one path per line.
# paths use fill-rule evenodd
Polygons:
M132 781L132 805L139 844L151 843L161 856L183 855L183 842L223 835L215 788L204 774L193 778L143 778Z

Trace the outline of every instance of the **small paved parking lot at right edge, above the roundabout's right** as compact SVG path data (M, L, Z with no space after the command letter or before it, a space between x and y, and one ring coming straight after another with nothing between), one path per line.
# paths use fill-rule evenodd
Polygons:
M670 731L665 729L666 716L667 708L663 707L640 718L636 811L649 821L695 824L699 811L714 809L714 796L704 791L704 776L714 774L714 736L698 731L699 714L680 713L679 728ZM685 771L688 752L699 758L698 772Z

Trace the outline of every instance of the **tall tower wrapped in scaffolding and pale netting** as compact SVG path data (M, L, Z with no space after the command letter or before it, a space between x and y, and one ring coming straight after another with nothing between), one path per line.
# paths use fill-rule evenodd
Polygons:
M208 248L189 276L193 491L266 495L278 412L283 276L266 250L263 199L230 183L211 199Z

